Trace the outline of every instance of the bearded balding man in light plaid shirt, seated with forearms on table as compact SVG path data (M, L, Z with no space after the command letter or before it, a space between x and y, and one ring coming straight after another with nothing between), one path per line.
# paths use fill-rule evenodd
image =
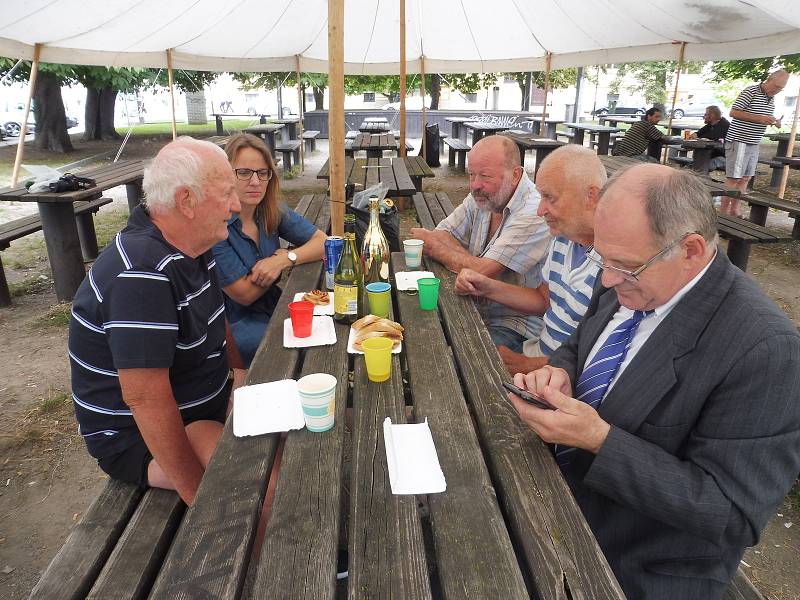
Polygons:
M520 164L516 144L489 136L469 152L471 193L434 231L411 230L424 240L424 252L458 273L470 268L507 283L536 288L542 283L550 233L536 216L539 194ZM514 352L528 338L538 338L540 317L522 314L497 302L481 300L478 310L492 341Z

